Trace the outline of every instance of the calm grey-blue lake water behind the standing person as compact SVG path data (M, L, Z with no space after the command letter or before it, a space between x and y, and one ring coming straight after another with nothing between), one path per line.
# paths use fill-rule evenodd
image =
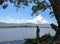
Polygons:
M51 28L41 28L40 36L50 33L55 34L55 31ZM23 40L25 38L35 38L36 28L0 28L0 42Z

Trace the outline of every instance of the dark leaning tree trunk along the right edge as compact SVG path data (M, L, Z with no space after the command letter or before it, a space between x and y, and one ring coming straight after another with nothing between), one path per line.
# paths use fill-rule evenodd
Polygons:
M60 0L49 0L58 24L58 30L55 34L55 40L60 37Z

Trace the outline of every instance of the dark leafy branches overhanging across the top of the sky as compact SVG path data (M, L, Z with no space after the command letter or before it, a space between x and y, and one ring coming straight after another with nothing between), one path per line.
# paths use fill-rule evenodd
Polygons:
M3 9L8 7L8 3L14 4L15 7L20 8L22 5L29 6L30 3L34 3L32 7L32 15L38 13L38 11L45 11L47 8L52 9L49 2L46 0L0 0L0 5L2 5Z

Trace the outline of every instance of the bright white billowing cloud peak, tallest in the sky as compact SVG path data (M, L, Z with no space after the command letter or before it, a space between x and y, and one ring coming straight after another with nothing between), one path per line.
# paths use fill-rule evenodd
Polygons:
M45 19L45 18L43 18L43 16L41 16L41 15L38 15L36 18L34 18L33 20L28 20L28 22L31 22L31 23L42 23L42 24L46 24L46 23L48 23L48 21Z

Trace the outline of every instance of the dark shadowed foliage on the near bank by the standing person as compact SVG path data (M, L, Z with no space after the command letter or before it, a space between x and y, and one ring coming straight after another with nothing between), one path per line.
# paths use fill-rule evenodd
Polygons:
M52 41L52 39L53 39L54 37L53 36L51 36L50 34L45 34L45 35L43 35L40 39L39 39L39 41L40 41L40 43L50 43L51 41ZM24 44L36 44L37 42L37 39L36 38L32 38L32 39L25 39L25 43Z

